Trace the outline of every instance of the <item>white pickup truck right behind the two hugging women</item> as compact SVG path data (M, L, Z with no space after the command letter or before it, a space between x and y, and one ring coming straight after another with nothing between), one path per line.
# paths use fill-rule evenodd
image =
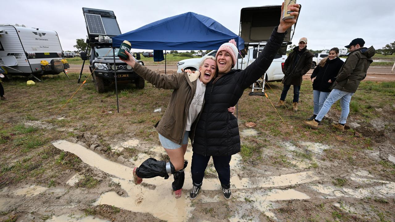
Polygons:
M257 53L258 53L258 47L250 47L247 51L247 54L242 58L241 55L239 55L239 64L238 67L235 66L235 69L241 69L244 70L247 66L249 66L252 62L255 61L257 58ZM259 52L261 52L263 47L259 47ZM209 53L207 53L206 56L214 56L217 53L216 50L213 50ZM284 62L286 60L287 56L286 55L276 55L275 59L273 60L272 64L269 66L269 68L266 71L266 81L267 82L273 82L273 81L281 81L282 78L284 77L284 73L282 73L282 66L284 66ZM178 70L177 72L182 72L181 70L197 70L199 68L199 64L203 58L188 58L181 60L177 62L177 67ZM263 75L264 73L262 73Z

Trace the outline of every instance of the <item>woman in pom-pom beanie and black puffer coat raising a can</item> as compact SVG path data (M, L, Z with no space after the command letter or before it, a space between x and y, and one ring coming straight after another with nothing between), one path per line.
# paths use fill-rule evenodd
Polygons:
M207 84L205 105L199 121L193 128L194 138L191 138L193 139L191 199L195 199L199 193L204 171L211 156L224 197L226 199L231 197L229 162L231 155L240 152L240 135L237 119L228 113L228 107L236 105L244 90L269 68L284 41L286 30L296 23L299 5L295 5L292 11L291 15L295 15L295 19L282 21L280 17L280 25L273 30L262 53L245 70L232 70L238 55L234 40L222 44L218 49L216 54L218 75Z

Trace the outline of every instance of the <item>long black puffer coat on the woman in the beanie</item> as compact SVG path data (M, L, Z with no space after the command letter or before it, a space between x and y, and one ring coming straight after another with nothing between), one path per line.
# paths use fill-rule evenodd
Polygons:
M237 119L228 112L244 90L269 68L284 40L285 33L272 32L262 53L245 70L231 70L207 84L205 105L196 124L193 152L203 156L230 156L240 152Z

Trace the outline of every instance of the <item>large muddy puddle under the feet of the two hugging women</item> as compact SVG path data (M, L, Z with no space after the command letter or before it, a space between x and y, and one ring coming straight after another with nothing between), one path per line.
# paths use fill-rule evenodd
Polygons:
M135 145L135 143L132 144ZM111 177L113 182L119 183L120 187L127 193L127 196L125 197L119 196L114 191L105 192L97 199L94 205L114 205L134 212L150 213L157 218L168 221L186 221L192 216L191 212L194 209L194 204L191 204L191 201L188 198L188 191L192 188L190 164L188 164L188 167L185 169L186 173L183 195L181 198L175 199L171 189L171 182L173 181L172 177L169 177L167 180L164 180L162 177L143 179L143 184L135 185L132 181L133 167L112 162L81 145L68 141L55 141L53 142L53 145L63 151L72 152L79 156L86 164L97 167L105 173L113 175L113 177ZM166 154L166 152L162 147L153 146L150 150L140 153L137 156L137 159L130 161L132 161L134 166L139 166L145 159L149 157L160 159L160 156L163 154ZM187 150L185 159L189 160L189 162L192 160L192 151L190 149ZM239 154L232 156L230 165L232 172L232 189L290 186L320 179L314 171L290 173L270 177L240 178L237 173L235 173L243 173L241 156ZM211 168L211 170L215 172L214 168ZM220 182L217 178L205 178L203 180L202 195L197 199L197 201L224 201L222 195L218 195L214 198L205 197L205 191L209 190L218 190L218 192L220 192ZM239 194L236 190L234 190L234 192L236 196L245 195L245 193ZM293 191L272 190L271 192L263 192L262 195L265 194L265 196L269 197L267 201L276 201L277 199L286 199L287 196L288 199L293 198L293 196L290 195L290 192ZM253 194L249 195L251 198L256 198L257 203L259 202L258 196L260 194L254 194L255 196ZM303 195L301 195L301 197L306 198L306 196ZM152 203L155 203L155 205L153 206ZM267 212L267 215L273 216L269 211Z

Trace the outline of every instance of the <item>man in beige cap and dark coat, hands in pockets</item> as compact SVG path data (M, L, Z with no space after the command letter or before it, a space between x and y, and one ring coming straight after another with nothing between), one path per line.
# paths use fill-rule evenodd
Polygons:
M311 68L313 53L308 51L307 38L303 37L299 40L299 46L293 48L293 51L288 55L288 58L284 62L284 67L282 72L284 73L284 79L282 83L284 88L282 89L280 101L275 105L275 107L285 107L285 98L287 92L293 85L293 101L292 109L297 111L297 103L299 102L299 90L302 85L302 77Z

